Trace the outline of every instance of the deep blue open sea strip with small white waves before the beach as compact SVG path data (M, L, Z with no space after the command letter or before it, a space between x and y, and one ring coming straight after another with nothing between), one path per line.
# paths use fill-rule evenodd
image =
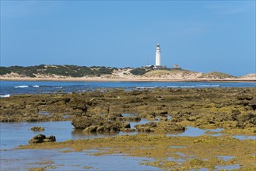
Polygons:
M0 97L18 94L72 93L96 89L124 88L217 88L256 87L255 82L57 82L57 81L0 81Z

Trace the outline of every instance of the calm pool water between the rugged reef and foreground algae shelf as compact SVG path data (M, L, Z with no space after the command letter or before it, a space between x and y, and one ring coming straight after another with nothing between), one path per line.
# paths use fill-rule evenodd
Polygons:
M130 122L132 128L136 124L146 124L151 122L151 120L142 119L139 122ZM44 127L45 131L31 131L30 128L34 126ZM213 131L216 134L208 134L211 136L221 136L219 131L223 129L214 129L214 130L202 130L197 127L187 127L187 130L183 133L178 134L167 134L167 136L190 136L198 137L205 134L206 131ZM89 138L102 138L102 137L111 137L115 135L124 135L124 134L143 134L138 132L115 132L115 133L84 133L82 130L75 130L72 126L71 121L58 121L58 122L17 122L17 123L1 123L0 124L0 146L1 149L12 149L18 147L19 145L27 145L28 141L37 134L45 134L50 136L51 134L56 136L57 141L66 141L74 139L89 139ZM150 133L149 133L150 134ZM234 135L233 138L238 139L254 139L254 136L238 136Z

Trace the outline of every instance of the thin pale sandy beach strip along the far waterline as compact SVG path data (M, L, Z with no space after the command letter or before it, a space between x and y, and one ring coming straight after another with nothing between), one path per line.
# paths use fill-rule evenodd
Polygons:
M0 77L0 81L53 81L53 82L256 82L256 79L167 79L167 78L29 78Z

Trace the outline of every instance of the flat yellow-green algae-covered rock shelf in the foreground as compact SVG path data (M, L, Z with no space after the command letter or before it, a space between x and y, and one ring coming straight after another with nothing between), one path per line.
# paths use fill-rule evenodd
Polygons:
M186 148L170 148L184 146ZM71 148L75 152L96 149L96 155L122 152L129 156L153 158L141 164L160 169L216 169L217 166L239 165L240 170L254 169L256 140L238 140L230 136L167 137L155 134L123 135L64 142L21 145L19 149ZM70 151L73 152L73 151ZM219 156L232 156L222 159Z

